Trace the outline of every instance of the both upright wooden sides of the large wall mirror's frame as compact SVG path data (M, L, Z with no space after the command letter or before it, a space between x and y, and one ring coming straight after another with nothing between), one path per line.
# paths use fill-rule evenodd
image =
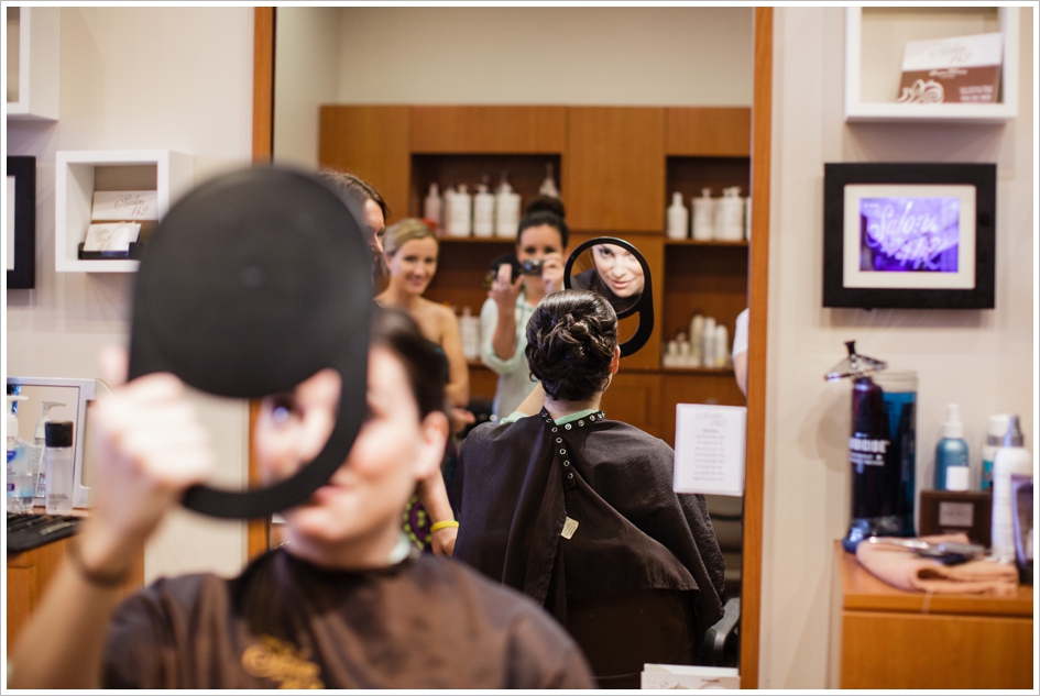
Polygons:
M274 152L275 9L254 8L253 162ZM766 341L769 306L769 172L773 124L773 8L755 8L752 102L752 240L748 261L747 449L741 589L741 688L758 687L762 541L765 494ZM252 432L258 405L249 408L249 478L258 475ZM248 556L267 550L266 519L250 520Z

